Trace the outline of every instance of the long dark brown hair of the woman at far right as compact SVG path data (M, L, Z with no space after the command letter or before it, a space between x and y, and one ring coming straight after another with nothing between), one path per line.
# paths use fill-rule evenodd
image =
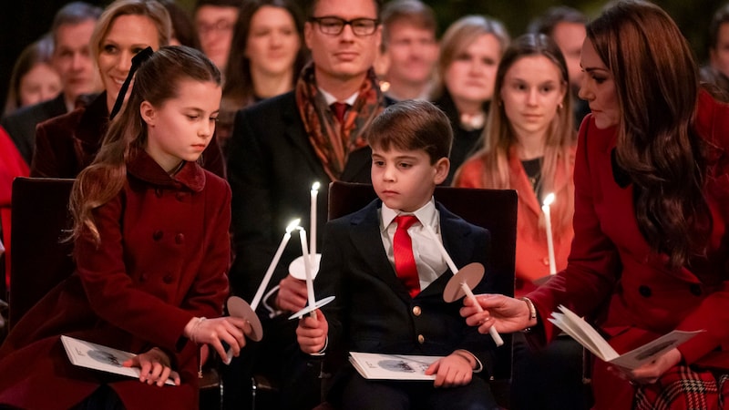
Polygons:
M587 26L615 79L621 108L616 159L633 183L638 227L679 268L702 255L712 219L693 131L699 76L691 48L657 5L621 1Z

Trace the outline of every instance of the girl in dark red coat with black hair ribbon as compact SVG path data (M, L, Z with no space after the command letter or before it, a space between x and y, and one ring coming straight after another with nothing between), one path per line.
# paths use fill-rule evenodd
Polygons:
M245 321L205 319L228 294L231 190L196 163L220 100L220 71L199 51L164 47L139 68L71 194L76 272L0 348L1 405L193 409L197 344L240 352ZM123 364L139 380L75 367L61 334L139 354Z

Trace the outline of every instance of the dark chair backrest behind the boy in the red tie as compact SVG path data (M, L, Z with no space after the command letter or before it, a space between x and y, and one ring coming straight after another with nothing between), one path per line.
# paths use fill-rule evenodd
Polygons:
M491 267L498 274L494 279L499 293L514 296L514 263L517 247L517 191L476 190L436 187L435 198L456 215L491 233ZM329 219L342 217L364 208L375 200L371 185L335 181L329 185ZM495 379L511 378L511 338L504 337L504 346L497 349Z

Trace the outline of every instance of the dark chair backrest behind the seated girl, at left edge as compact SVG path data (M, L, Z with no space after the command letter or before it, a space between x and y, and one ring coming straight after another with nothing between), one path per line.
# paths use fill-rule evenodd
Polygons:
M74 270L73 245L62 241L71 227L68 198L74 179L13 181L13 263L8 327Z

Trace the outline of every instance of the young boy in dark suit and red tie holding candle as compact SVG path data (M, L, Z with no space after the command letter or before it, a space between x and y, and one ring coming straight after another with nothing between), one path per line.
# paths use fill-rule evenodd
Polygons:
M367 138L379 199L327 224L316 284L336 299L300 321L299 345L334 361L349 351L444 356L426 371L434 383L365 380L345 365L328 397L341 408L496 408L488 383L473 377L488 373L493 343L468 329L459 303L444 302L453 272L425 226L457 266L486 264L488 231L433 200L449 169L448 118L407 100L375 118ZM488 281L477 286L482 291Z

